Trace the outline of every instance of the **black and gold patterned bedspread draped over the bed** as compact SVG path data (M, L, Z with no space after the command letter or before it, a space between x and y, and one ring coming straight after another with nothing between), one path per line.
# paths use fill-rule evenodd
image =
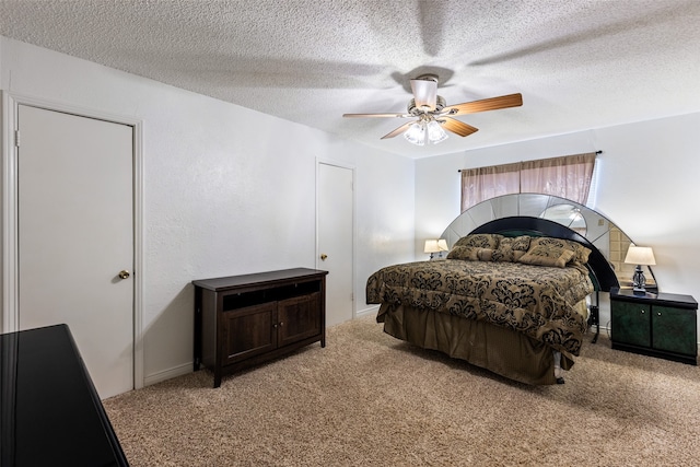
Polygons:
M378 270L368 279L366 302L483 319L578 355L587 324L575 305L591 292L576 268L445 259Z

